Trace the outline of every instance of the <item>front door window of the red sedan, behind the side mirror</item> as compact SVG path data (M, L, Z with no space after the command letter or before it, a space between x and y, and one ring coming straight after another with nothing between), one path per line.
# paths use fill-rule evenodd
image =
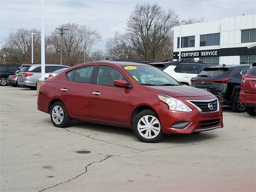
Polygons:
M114 80L126 80L126 78L115 68L100 65L98 68L96 84L105 86L114 86Z

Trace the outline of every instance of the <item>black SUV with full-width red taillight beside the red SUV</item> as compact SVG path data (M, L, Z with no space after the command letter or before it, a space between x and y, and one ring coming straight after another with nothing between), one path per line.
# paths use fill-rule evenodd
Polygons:
M204 68L196 78L192 78L192 87L207 90L214 94L220 104L229 105L234 112L245 112L245 106L239 102L242 75L249 65L220 65Z

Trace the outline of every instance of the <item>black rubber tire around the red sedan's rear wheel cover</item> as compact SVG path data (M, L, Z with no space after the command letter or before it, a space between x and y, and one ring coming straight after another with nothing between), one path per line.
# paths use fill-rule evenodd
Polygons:
M62 122L60 123L60 124L57 124L55 121L54 121L54 118L53 118L53 111L54 111L54 107L55 106L59 106L61 109L62 109L62 111L63 111L63 120L62 120ZM51 107L51 111L50 111L50 115L51 115L51 120L52 120L52 124L54 125L54 126L56 126L56 127L61 127L61 128L64 128L64 127L67 127L69 124L70 124L70 122L71 122L71 119L69 118L69 116L68 116L68 112L67 112L67 110L66 110L66 107L64 106L64 104L62 103L62 102L60 102L60 101L57 101L57 102L55 102L53 105L52 105L52 107Z

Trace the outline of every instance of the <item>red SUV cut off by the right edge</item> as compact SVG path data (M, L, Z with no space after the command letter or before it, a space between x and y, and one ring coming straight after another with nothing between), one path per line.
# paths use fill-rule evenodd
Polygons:
M256 116L256 62L242 76L239 100L249 115Z

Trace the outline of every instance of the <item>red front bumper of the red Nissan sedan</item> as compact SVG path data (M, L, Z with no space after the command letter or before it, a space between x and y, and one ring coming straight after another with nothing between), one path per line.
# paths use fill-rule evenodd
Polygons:
M211 98L208 99L213 98L212 96L210 97ZM188 98L184 98L184 100L188 100ZM195 106L184 100L182 99L182 102L186 103L193 111L180 112L175 110L168 110L166 104L161 105L162 110L158 110L158 116L160 118L163 133L190 134L193 132L203 132L223 127L221 106L219 106L219 110L216 112L200 113L200 111ZM173 124L176 122L190 123L186 127L173 128Z

